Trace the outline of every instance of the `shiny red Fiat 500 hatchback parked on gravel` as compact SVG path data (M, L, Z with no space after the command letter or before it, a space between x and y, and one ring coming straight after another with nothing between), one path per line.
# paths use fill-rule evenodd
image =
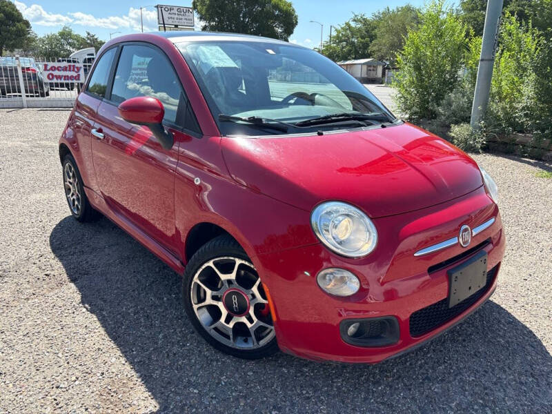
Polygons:
M493 179L313 50L119 37L59 156L75 219L101 212L184 275L190 322L237 357L380 362L495 289Z

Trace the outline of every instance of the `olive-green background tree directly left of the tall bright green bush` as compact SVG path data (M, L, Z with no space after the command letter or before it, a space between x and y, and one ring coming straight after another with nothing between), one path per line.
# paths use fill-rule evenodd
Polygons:
M371 56L395 63L397 52L404 46L408 30L418 24L418 9L407 4L393 10L386 7L373 15L375 39L370 45Z

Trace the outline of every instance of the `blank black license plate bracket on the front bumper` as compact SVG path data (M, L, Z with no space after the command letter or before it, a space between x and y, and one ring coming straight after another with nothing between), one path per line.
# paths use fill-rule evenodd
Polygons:
M480 251L446 273L449 275L449 308L452 308L485 287L487 279L486 251Z

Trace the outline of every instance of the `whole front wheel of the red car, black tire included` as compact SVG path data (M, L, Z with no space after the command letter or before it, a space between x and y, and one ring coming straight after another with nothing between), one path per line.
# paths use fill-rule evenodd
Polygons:
M219 351L245 359L278 351L257 270L232 237L216 237L193 255L182 297L195 330Z

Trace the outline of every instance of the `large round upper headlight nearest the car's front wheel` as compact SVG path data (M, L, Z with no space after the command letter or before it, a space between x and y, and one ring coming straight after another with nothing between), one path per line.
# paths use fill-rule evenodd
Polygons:
M317 206L311 215L311 226L328 248L346 257L362 257L377 244L377 231L371 219L356 207L340 201Z

